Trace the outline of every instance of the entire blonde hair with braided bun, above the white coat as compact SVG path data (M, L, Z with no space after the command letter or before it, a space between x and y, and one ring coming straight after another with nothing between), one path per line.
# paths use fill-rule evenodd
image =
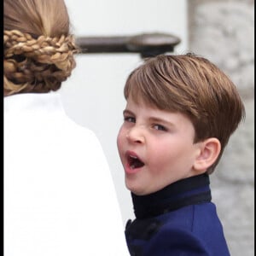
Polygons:
M79 51L62 0L4 0L3 47L5 96L60 89Z

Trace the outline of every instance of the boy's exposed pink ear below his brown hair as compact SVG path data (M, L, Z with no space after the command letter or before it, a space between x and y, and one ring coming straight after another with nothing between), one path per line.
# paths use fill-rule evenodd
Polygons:
M193 166L197 174L207 171L207 168L217 160L221 149L221 144L216 137L207 138L205 141L199 143L199 154L195 159Z

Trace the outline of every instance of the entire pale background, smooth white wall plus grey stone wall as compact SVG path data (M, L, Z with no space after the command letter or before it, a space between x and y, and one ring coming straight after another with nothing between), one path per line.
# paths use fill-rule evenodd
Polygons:
M175 53L192 50L205 55L234 80L245 103L247 119L231 137L223 160L212 174L212 199L217 204L231 255L253 255L254 1L66 0L66 3L77 36L171 33L182 40ZM125 79L140 61L137 54L80 55L72 77L61 89L67 114L95 131L102 143L124 225L134 215L115 142L125 108Z

